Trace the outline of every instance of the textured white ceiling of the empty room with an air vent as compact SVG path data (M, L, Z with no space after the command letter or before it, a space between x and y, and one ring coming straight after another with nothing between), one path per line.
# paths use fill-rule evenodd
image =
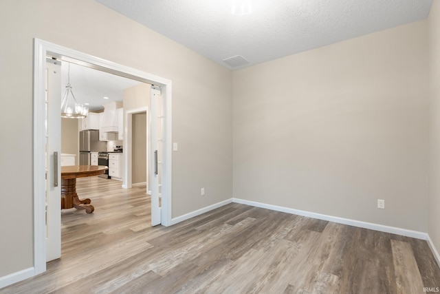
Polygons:
M428 17L432 0L96 0L231 70ZM251 1L252 12L228 12ZM241 56L249 63L223 62Z

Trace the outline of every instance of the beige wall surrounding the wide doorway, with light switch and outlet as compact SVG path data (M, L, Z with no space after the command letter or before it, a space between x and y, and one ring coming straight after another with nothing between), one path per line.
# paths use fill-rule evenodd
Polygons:
M173 217L232 197L232 73L93 0L0 1L0 277L33 265L33 39L173 81ZM190 164L189 164L190 163ZM18 176L19 175L19 176ZM207 196L199 196L199 187Z

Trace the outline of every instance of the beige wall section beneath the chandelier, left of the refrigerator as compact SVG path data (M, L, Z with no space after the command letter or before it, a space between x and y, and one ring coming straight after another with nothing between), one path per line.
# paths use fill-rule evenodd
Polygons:
M76 154L76 165L79 162L78 138L78 120L61 118L61 153Z

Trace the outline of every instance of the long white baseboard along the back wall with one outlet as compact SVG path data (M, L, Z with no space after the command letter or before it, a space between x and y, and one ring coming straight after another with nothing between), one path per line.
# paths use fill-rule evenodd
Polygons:
M426 240L426 238L428 237L427 233L422 233L419 231L411 231L411 230L400 229L400 228L396 228L396 227L388 227L388 226L384 226L382 224L373 224L371 222L361 222L360 220L350 220L348 218L338 218L336 216L327 216L325 214L303 211L303 210L298 210L298 209L291 209L291 208L287 208L287 207L280 207L277 205L265 204L265 203L254 202L254 201L249 201L249 200L243 200L243 199L239 199L239 198L233 198L232 202L246 204L246 205L250 205L250 206L254 206L254 207L261 207L261 208L270 209L270 210L274 210L274 211L292 213L292 214L296 214L298 216L307 216L309 218L317 218L318 220L328 220L329 222L337 222L338 224L348 224L349 226L353 226L353 227L360 227L360 228L364 228L364 229L371 229L374 231L381 231L381 232L385 232L385 233L404 235L406 237L411 237L411 238L416 238L416 239L421 239L421 240Z

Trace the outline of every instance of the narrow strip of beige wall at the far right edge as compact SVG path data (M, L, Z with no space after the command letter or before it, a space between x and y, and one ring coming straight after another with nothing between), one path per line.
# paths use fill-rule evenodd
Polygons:
M440 1L434 1L428 18L430 39L431 177L428 233L440 251Z

